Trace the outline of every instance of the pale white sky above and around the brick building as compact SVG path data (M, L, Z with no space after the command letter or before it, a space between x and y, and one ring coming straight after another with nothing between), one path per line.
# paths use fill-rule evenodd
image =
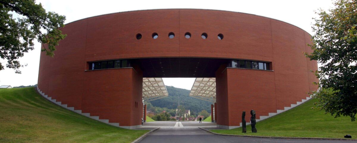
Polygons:
M172 8L195 8L195 9L216 9L250 13L269 18L278 19L296 25L308 33L311 30L312 18L316 17L314 10L322 8L328 10L333 7L331 0L37 0L46 11L54 11L66 16L66 22L101 15L116 13L121 11L144 10L144 9L172 9ZM37 83L40 43L35 43L35 50L25 53L20 58L21 64L27 64L20 68L22 74L15 74L15 71L5 67L0 71L0 85L33 85ZM5 60L0 59L2 64ZM184 88L190 90L194 78L164 78L165 85Z

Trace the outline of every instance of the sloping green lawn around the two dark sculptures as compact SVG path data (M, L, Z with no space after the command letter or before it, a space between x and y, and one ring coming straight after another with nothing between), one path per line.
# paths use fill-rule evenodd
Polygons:
M314 102L317 99L257 122L257 133L251 132L250 125L247 125L247 133L242 133L242 128L211 131L220 134L318 138L343 138L344 135L351 134L352 139L357 138L357 122L351 122L350 117L334 118L321 110L311 109L315 107Z

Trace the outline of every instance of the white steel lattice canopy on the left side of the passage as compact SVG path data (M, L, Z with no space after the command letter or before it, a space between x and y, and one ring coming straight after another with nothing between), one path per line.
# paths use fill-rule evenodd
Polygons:
M144 102L169 96L162 78L142 78L142 98Z

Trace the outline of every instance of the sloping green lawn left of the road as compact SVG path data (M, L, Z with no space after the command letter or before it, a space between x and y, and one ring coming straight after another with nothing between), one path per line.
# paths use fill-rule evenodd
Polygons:
M0 89L0 142L129 143L146 132L84 117L51 103L35 88Z

